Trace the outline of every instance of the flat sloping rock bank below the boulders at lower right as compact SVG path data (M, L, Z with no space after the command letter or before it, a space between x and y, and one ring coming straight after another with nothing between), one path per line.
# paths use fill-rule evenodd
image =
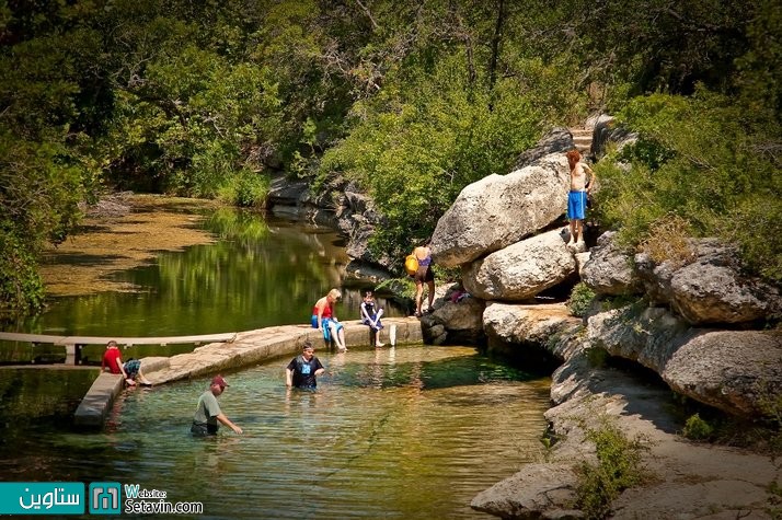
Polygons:
M547 460L527 464L479 494L473 508L501 518L593 518L574 509L580 486L595 484L584 470L621 467L621 459L633 455L617 451L599 460L606 453L598 453L596 436L616 427L631 444L637 442L641 482L616 489L603 506L605 518L780 518L782 464L768 446L761 450L688 440L670 389L648 373L595 367L587 356L575 356L554 373L551 395L556 405L545 413L552 442ZM610 493L607 487L601 492Z

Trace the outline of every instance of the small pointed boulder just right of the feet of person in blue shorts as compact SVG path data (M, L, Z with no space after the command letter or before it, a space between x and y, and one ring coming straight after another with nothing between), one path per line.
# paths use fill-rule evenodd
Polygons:
M580 273L582 281L598 294L630 294L642 288L633 255L617 245L616 235L616 231L607 231L597 239Z

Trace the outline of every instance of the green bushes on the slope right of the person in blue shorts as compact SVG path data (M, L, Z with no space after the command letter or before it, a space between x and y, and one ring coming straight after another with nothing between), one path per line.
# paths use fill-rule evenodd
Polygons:
M599 211L622 240L639 244L656 223L679 219L694 236L737 243L748 266L782 279L782 180L762 122L735 100L700 89L691 97L656 94L634 100L623 112L642 135L639 145L599 169ZM629 162L630 170L621 162ZM762 208L762 209L761 209ZM681 226L680 226L681 228Z

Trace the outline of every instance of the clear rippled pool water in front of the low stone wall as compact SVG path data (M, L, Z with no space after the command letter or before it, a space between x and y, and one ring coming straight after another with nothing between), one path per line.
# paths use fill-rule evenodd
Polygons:
M204 378L127 391L100 435L31 428L0 473L138 483L203 501L200 518L491 518L475 494L542 457L549 380L467 347L315 354L314 393L286 390L288 358L227 374L243 436L189 437Z

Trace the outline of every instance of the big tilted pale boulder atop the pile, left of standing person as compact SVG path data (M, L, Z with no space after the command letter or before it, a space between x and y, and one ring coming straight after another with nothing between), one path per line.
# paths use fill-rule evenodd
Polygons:
M567 159L553 153L507 175L467 186L440 217L432 256L455 267L534 234L566 209Z

